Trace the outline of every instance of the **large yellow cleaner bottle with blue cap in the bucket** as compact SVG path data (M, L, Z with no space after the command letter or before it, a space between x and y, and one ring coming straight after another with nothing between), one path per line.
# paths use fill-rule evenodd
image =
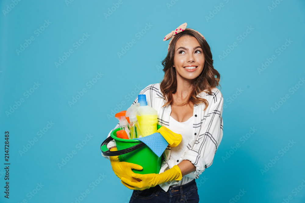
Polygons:
M145 94L138 95L138 103L141 116L137 115L137 119L143 133L142 137L145 137L157 131L158 115L154 108L147 105Z

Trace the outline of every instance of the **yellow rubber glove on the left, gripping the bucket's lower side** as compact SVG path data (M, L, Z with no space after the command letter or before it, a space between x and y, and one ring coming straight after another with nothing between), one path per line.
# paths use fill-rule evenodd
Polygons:
M117 151L117 148L114 147L114 148L110 149L110 151ZM131 176L133 174L136 174L131 169L142 170L143 169L142 166L140 166L138 164L134 164L134 163L124 162L124 161L120 162L118 156L109 156L109 158L110 158L112 170L116 174L117 177L119 177L120 179L122 177L125 177L126 180L133 181L133 182L139 181Z

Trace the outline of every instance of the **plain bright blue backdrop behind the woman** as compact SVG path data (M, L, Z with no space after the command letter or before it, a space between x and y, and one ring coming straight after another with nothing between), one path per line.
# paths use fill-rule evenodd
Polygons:
M100 151L117 124L107 114L127 110L140 90L161 82L169 43L163 38L185 22L210 45L224 96L223 139L213 165L196 180L201 201L305 202L305 85L300 80L305 76L305 2L118 2L1 1L0 202L77 202L86 190L90 193L81 202L128 202L132 191ZM248 26L253 29L246 33ZM133 39L136 43L119 57ZM237 46L228 50L234 42ZM23 44L28 46L16 51ZM275 59L266 63L272 55ZM65 60L56 66L59 58ZM262 63L268 65L264 70L258 69ZM103 75L90 86L98 73ZM75 96L79 100L69 105ZM69 161L59 167L65 158ZM9 199L4 198L4 163L10 163ZM40 190L30 195L36 187ZM240 190L246 193L241 196Z

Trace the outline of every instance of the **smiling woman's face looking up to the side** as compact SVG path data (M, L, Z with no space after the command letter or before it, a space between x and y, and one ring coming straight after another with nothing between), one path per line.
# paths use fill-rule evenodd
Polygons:
M177 79L193 80L197 78L204 66L203 50L195 37L180 37L175 46L174 65Z

